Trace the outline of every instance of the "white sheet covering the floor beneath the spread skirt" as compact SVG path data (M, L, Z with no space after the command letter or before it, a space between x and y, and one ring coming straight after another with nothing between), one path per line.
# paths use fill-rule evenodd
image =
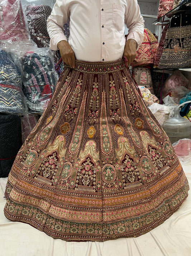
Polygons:
M191 188L191 165L183 166ZM0 256L191 256L191 191L163 224L136 238L106 242L53 239L3 214L7 178L0 178Z

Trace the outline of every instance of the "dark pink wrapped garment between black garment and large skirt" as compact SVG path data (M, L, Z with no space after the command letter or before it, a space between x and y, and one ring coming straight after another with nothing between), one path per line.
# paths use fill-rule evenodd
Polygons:
M25 142L40 118L39 114L27 113L21 118L22 124L22 143Z

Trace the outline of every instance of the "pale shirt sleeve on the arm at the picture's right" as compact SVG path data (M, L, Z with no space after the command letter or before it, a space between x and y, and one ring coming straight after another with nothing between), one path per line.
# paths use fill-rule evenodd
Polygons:
M129 29L126 40L134 39L138 44L138 49L139 45L144 39L144 19L140 15L140 9L137 0L127 0L125 24Z

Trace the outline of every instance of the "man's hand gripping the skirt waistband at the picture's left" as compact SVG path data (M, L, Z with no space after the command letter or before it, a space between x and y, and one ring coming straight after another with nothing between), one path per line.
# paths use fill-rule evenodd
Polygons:
M57 44L63 62L69 65L71 68L75 68L75 57L72 47L68 44L67 41L62 40Z

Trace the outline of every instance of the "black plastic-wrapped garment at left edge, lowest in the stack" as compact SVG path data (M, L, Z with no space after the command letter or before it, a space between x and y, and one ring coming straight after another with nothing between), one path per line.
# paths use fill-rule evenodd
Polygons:
M0 178L8 177L21 145L20 116L0 113Z

